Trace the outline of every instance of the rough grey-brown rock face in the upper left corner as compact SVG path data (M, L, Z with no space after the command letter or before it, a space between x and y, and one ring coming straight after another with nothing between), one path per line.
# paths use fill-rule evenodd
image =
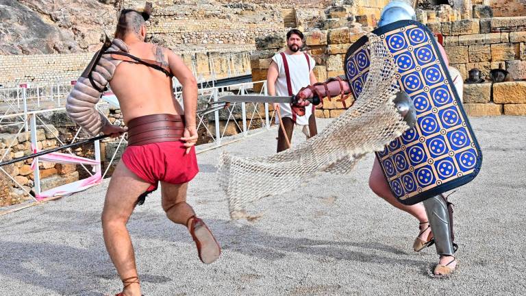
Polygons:
M0 0L0 55L95 51L115 14L96 0Z

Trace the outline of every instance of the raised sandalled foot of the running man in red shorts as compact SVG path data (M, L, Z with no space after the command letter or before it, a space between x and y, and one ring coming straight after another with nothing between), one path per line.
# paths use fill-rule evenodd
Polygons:
M190 222L190 220L192 221ZM188 230L190 230L192 239L195 241L197 254L201 262L210 264L217 260L219 255L221 255L221 247L217 243L216 238L214 238L214 234L210 232L203 220L195 217L195 215L186 220L186 225L189 222Z

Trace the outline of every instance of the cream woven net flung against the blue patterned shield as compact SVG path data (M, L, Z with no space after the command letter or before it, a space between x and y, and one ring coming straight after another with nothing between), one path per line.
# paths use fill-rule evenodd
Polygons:
M392 103L399 90L397 66L382 40L367 36L371 65L362 93L320 134L271 156L240 158L223 153L218 179L232 219L250 219L249 204L297 188L318 173L350 173L366 153L383 150L408 128Z

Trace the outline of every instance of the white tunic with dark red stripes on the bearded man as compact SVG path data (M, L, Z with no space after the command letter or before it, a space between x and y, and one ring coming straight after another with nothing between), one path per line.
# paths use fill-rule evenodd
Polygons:
M305 54L299 53L294 55L285 54L288 63L288 70L290 73L290 84L292 86L292 95L297 95L299 90L305 86L310 85L310 71L314 69L316 62L314 59L309 56L310 59L310 69L305 58ZM277 64L277 69L279 75L277 76L275 89L276 95L278 96L288 96L287 89L287 78L285 74L285 66L283 59L281 58L281 53L276 53L273 56L272 60ZM280 103L279 104L281 116L292 118L292 110L290 110L290 104ZM305 107L305 116L297 116L296 124L297 125L308 125L309 116L312 114L312 106ZM276 119L276 123L277 123Z

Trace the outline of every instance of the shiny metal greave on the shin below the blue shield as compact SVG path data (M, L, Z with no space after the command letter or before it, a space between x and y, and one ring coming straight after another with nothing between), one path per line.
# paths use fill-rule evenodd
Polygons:
M453 238L451 236L451 220L447 208L447 201L441 195L436 195L423 201L429 225L435 239L436 253L453 256Z

